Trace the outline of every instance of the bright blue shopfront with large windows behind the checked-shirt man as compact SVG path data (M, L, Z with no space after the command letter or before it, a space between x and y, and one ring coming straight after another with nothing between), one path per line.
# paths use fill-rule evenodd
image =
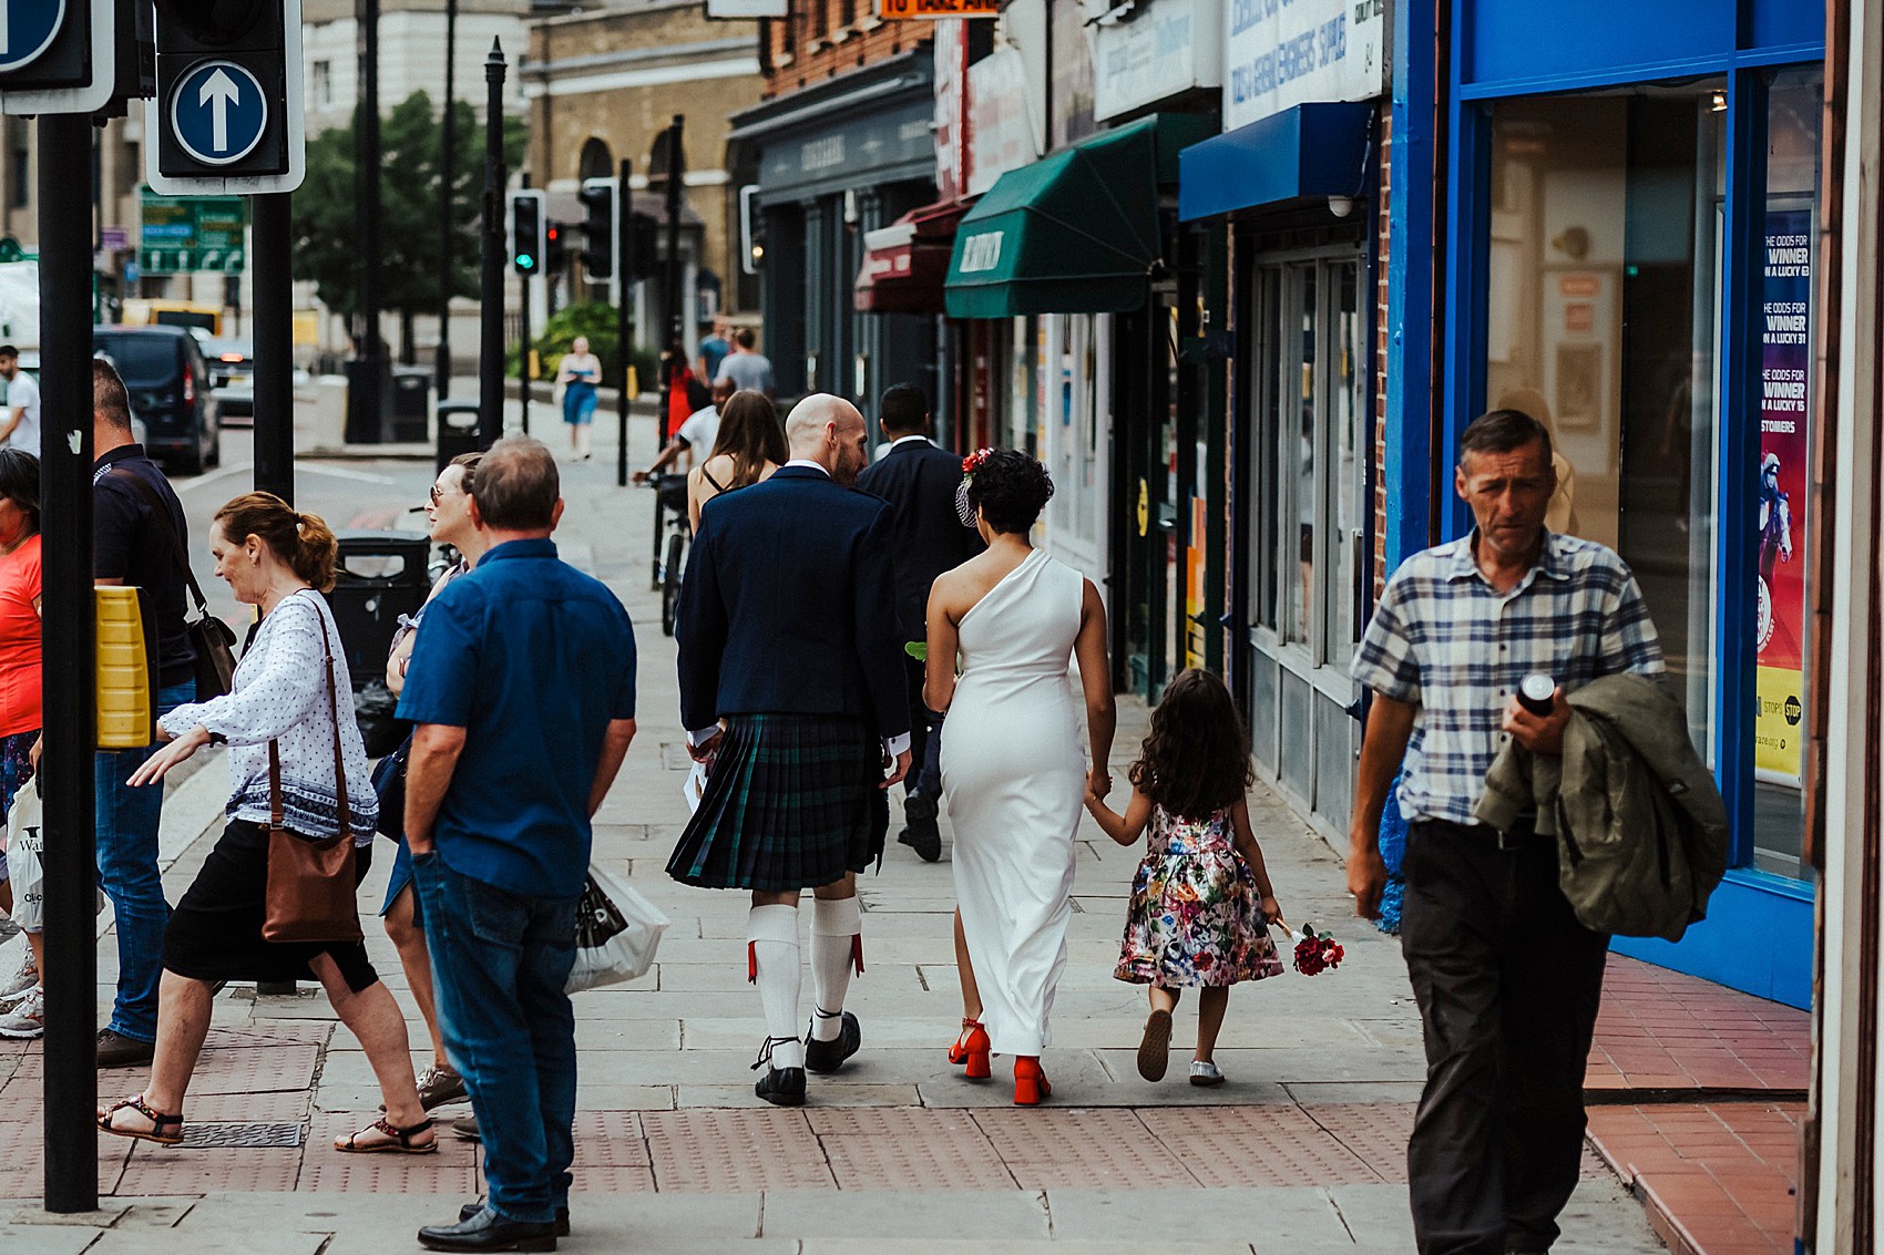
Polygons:
M1733 818L1707 921L1616 950L1805 1006L1824 6L1421 8L1394 6L1387 563L1470 528L1473 415L1552 430L1567 530L1635 569Z

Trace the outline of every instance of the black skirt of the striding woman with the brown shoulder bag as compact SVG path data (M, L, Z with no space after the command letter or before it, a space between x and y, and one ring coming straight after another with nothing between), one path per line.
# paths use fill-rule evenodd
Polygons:
M354 850L356 882L371 846ZM164 931L164 969L190 980L315 980L307 961L326 953L354 993L379 984L364 942L262 940L268 906L268 827L230 820Z

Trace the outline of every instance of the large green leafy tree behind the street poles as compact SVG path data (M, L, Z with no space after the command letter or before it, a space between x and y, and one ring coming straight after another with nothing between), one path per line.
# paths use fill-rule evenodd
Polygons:
M356 309L360 247L354 226L354 130L347 126L307 139L307 179L294 194L294 277L311 279L320 302L337 313ZM484 128L469 102L456 106L458 149L452 162L452 296L479 294L479 222L484 194ZM414 315L439 309L439 183L445 128L426 92L413 92L381 121L381 305L399 315L407 354ZM524 160L528 128L503 121L503 162Z

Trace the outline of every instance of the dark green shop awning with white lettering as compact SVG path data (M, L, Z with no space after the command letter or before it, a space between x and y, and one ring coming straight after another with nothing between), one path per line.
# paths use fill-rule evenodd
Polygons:
M1000 175L955 230L950 317L1144 305L1161 256L1159 183L1176 177L1172 158L1200 122L1147 117Z

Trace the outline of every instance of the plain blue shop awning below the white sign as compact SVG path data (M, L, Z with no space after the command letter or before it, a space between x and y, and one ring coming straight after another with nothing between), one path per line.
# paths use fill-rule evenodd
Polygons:
M1304 196L1356 196L1368 170L1370 100L1302 104L1178 155L1185 222Z

